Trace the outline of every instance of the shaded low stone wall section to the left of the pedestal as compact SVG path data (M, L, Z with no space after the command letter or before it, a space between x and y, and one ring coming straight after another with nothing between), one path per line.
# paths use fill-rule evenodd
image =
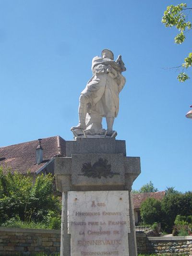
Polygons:
M0 227L0 256L60 252L60 230Z

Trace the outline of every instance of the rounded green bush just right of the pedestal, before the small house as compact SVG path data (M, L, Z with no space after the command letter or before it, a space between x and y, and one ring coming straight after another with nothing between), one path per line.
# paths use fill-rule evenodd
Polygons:
M146 224L160 222L161 219L161 202L155 198L147 198L141 204L141 218Z

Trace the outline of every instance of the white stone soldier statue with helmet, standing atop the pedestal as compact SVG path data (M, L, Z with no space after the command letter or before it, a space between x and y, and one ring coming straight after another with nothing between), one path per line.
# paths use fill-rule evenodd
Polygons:
M114 118L119 111L119 93L125 85L126 71L121 55L114 61L113 52L104 49L102 57L92 61L93 76L81 92L79 101L79 123L71 128L74 135L115 136ZM102 128L102 118L106 117L107 130Z

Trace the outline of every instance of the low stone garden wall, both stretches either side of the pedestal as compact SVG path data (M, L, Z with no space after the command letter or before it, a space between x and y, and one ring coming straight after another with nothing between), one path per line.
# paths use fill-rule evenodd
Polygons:
M136 234L138 253L192 256L192 236L146 237ZM60 230L0 227L0 256L60 252Z

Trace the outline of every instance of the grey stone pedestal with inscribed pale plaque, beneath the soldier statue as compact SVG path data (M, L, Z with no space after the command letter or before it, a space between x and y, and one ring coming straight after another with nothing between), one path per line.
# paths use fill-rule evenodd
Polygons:
M66 141L66 157L55 158L60 256L137 256L131 190L140 172L140 158L126 157L125 141Z

